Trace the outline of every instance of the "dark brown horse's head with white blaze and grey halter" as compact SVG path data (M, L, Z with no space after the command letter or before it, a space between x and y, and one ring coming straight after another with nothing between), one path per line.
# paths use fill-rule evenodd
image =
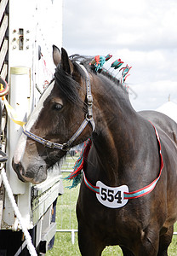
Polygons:
M94 129L87 71L71 61L65 49L60 54L54 46L53 59L57 66L54 79L31 114L14 153L14 171L24 182L43 182L48 168L71 146L86 140L92 132L90 126Z

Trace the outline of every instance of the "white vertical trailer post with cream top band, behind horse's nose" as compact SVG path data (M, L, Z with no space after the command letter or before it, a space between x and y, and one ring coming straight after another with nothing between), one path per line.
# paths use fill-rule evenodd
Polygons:
M30 68L28 67L13 67L10 72L10 91L9 91L9 103L18 113L18 120L26 121L27 113L27 97L30 91ZM13 121L8 119L8 131L7 131L7 154L9 160L6 164L6 172L9 177L9 184L14 195L19 195L17 203L20 207L20 212L23 218L26 219L26 224L31 227L31 184L22 183L12 168L12 157L14 155L14 149L19 140L22 128L20 125L14 124ZM3 210L3 224L7 228L11 225L16 225L14 229L19 228L18 221L14 218L14 210L11 207L9 198L6 195ZM16 224L15 224L16 223Z

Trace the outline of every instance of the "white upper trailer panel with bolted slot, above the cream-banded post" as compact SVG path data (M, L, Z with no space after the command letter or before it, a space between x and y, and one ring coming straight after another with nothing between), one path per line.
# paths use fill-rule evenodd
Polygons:
M32 65L36 27L36 0L9 1L9 67ZM20 29L23 29L23 49L19 49Z

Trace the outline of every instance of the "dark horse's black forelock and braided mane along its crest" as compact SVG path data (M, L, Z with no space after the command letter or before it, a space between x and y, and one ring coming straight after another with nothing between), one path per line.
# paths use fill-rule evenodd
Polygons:
M76 67L78 73L81 74L83 79L85 78L85 73L80 65L83 65L89 73L97 74L94 69L89 65L90 61L92 61L94 56L86 56L86 55L71 55L70 59L74 67ZM127 90L124 86L119 82L119 80L111 75L106 69L101 71L101 74L105 76L107 79L111 80L113 84L120 86L124 92ZM60 84L60 93L64 96L68 102L78 103L81 102L80 97L78 96L78 89L80 89L80 84L77 83L71 76L66 75L66 72L60 67L60 64L56 67L54 78L57 84Z

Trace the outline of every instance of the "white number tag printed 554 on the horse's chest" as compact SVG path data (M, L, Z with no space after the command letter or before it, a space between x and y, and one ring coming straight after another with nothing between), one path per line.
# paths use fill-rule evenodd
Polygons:
M100 187L100 194L96 194L98 201L105 207L124 207L128 199L124 199L124 192L128 192L128 186L107 187L104 183L97 181L96 187Z

